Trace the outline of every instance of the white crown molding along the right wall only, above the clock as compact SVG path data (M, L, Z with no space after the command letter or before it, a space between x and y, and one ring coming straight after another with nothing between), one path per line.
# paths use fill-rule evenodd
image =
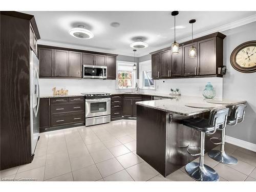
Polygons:
M201 33L194 34L194 38L202 37L202 36L205 36L205 35L208 35L208 34L211 34L211 33L215 33L215 32L223 32L223 31L233 29L233 28L237 28L237 27L240 27L240 26L252 23L252 22L256 22L256 14L245 17L245 18L242 18L242 19L239 19L239 20L236 20L235 22L231 22L231 23L226 24L226 25L222 25L222 26L212 28L212 29L209 29L209 30L201 32ZM182 39L178 39L176 41L177 42L185 42L185 41L188 41L188 40L191 40L191 36L185 37L185 38L182 38ZM170 47L170 44L171 43L163 45L163 46L161 46L157 49L154 49L150 52L154 52L154 51L158 51L160 49ZM147 55L147 54L145 54L145 55ZM141 57L141 56L144 56L144 55L139 55L139 57Z

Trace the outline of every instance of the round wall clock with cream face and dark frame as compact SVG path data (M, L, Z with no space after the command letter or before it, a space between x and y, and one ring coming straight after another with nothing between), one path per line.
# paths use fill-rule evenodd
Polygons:
M256 72L256 40L239 45L230 55L231 66L243 73Z

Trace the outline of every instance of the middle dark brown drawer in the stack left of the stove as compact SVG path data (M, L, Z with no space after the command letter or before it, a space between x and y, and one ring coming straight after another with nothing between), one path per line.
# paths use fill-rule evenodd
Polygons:
M52 104L51 113L65 113L65 112L83 112L84 103L83 102L71 102L71 103L56 103Z

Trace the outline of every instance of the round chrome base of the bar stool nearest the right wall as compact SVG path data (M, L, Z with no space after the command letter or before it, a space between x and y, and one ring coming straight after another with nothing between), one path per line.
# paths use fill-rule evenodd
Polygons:
M215 161L218 161L220 163L228 164L228 165L235 165L238 163L237 158L234 158L231 155L224 153L221 153L221 151L218 150L211 150L208 152L208 155L211 159L214 159Z

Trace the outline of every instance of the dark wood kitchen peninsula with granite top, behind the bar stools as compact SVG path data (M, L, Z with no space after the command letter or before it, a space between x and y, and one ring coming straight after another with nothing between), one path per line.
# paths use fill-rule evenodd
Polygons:
M166 177L197 156L187 152L188 146L200 145L200 132L182 124L185 119L202 117L208 119L211 109L246 101L226 101L228 104L207 103L202 97L179 96L162 100L140 101L137 104L137 148L136 153ZM210 105L211 108L192 108L188 103ZM221 137L217 131L205 135L205 153L216 147L211 137Z

